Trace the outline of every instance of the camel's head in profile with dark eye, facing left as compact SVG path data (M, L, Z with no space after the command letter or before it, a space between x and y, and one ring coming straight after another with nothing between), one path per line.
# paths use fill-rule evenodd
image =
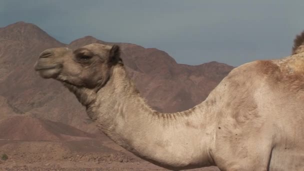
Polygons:
M67 47L46 49L40 53L34 68L43 78L96 89L106 83L116 64L122 64L118 45L92 43L75 50Z

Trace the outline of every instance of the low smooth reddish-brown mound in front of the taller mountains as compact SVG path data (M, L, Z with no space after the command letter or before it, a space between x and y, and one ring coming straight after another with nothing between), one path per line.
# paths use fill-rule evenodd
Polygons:
M0 120L0 139L83 140L93 135L72 126L31 116L14 115Z

